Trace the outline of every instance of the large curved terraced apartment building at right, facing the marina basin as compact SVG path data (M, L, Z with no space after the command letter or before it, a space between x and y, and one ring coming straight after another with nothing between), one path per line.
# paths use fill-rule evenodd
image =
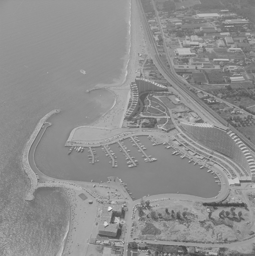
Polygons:
M191 137L206 147L231 158L248 175L255 175L255 162L248 148L228 127L209 123L180 122L181 127Z

